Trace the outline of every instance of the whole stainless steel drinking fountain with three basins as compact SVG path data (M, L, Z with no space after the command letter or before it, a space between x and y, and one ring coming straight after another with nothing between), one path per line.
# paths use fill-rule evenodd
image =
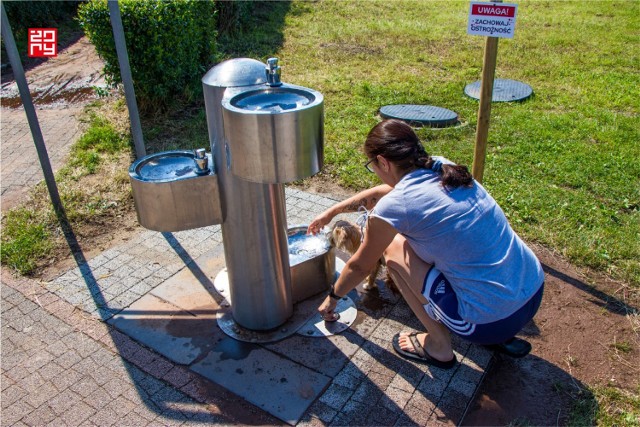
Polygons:
M287 228L284 184L322 169L324 97L280 77L277 58L266 66L237 58L211 68L202 78L211 152L154 154L129 171L144 227L221 225L226 268L214 286L228 291L231 312L218 323L240 340L249 339L238 331L251 341L295 332L283 327L294 304L326 293L336 278L328 244L290 259L291 241L307 237L304 225Z

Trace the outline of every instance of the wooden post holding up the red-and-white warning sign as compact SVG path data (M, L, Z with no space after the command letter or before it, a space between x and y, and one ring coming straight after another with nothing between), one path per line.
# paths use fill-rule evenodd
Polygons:
M502 3L502 0L493 0ZM487 155L487 138L491 119L491 100L493 98L493 80L496 75L496 58L498 57L498 37L487 37L484 46L482 64L482 82L480 85L480 107L478 108L478 124L476 125L476 144L473 149L472 174L476 181L482 182L484 160Z

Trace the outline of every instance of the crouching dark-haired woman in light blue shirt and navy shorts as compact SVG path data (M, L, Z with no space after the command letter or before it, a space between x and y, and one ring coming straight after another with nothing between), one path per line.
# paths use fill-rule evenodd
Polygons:
M337 214L370 210L362 245L318 308L322 316L332 319L340 297L384 256L427 329L393 338L401 356L451 368L450 332L483 345L512 339L540 306L544 274L495 200L465 166L430 157L405 122L378 123L364 151L365 167L384 184L334 205L309 225L315 234Z

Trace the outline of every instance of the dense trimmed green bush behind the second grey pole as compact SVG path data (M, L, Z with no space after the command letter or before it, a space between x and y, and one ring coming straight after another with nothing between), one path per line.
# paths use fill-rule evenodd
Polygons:
M215 2L120 0L119 6L140 111L165 111L178 99L199 95L216 52ZM78 20L105 61L107 81L121 82L107 2L82 4Z

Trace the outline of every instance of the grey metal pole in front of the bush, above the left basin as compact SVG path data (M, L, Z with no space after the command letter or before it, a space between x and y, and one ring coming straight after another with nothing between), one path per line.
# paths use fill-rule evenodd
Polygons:
M136 158L146 155L144 148L144 138L142 136L142 125L138 114L138 103L136 93L133 90L133 79L131 78L131 68L129 67L129 54L127 53L127 43L124 38L124 28L120 17L120 7L118 0L109 0L109 15L111 16L111 28L113 29L113 39L116 43L118 63L120 64L120 76L124 84L124 96L127 100L129 118L131 120L131 135L136 148Z

